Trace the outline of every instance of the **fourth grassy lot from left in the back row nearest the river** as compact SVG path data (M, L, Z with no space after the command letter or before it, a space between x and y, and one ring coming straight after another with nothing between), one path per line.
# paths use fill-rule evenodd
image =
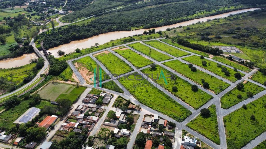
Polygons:
M155 47L158 50L167 52L168 54L171 54L175 57L181 57L181 56L185 56L185 55L189 55L190 53L188 52L184 52L182 50L176 49L174 47L168 46L164 43L161 43L160 41L157 40L151 40L151 41L145 41L144 43L146 43L147 45L150 45L152 47Z

